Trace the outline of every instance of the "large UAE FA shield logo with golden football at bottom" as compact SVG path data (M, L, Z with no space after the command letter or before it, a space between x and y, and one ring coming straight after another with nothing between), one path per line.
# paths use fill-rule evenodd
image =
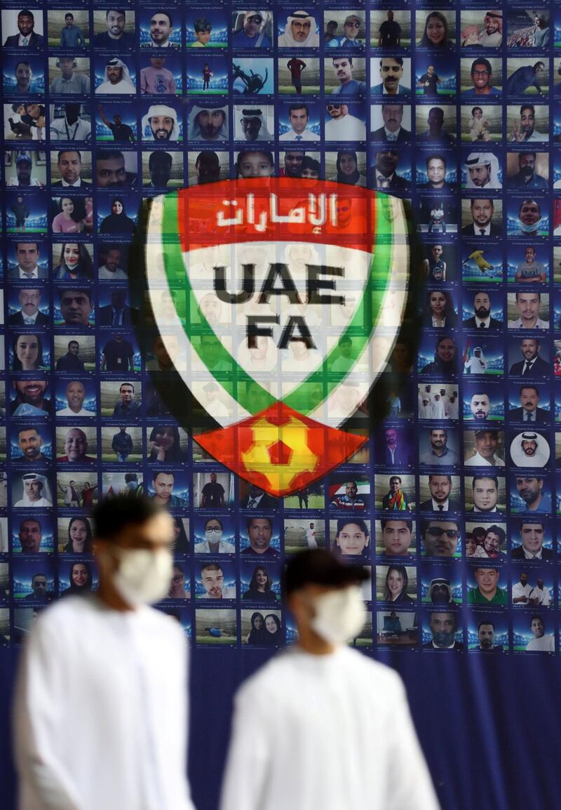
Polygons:
M193 430L207 453L283 496L366 441L342 425L402 322L401 200L287 177L183 189L152 201L145 258L159 339L213 420Z

